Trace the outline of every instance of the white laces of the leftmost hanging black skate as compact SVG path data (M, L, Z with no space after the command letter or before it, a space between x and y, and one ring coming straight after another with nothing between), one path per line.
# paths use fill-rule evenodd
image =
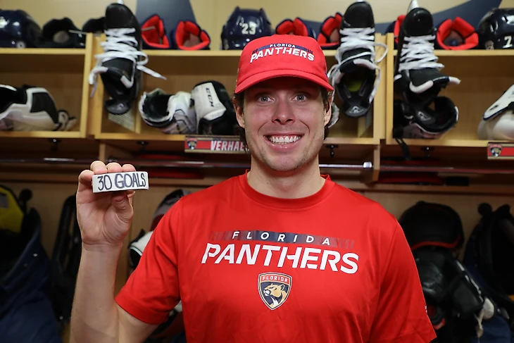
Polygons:
M137 46L137 39L130 36L130 34L134 33L135 30L136 29L134 29L134 27L123 27L105 30L106 42L100 43L101 47L104 49L104 53L96 54L94 56L96 58L96 66L89 73L89 85L94 85L92 94L94 94L96 89L98 74L104 73L105 71L105 68L102 67L102 63L111 61L115 58L126 58L135 63L138 70L141 70L142 72L147 73L153 77L166 80L163 75L144 66L146 63L148 63L148 55L135 47ZM139 57L142 57L143 59L139 60ZM132 87L133 83L134 75L132 75L129 86Z

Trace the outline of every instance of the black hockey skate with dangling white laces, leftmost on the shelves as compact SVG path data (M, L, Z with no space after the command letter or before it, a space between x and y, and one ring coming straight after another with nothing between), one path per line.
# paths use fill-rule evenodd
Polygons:
M105 103L106 110L123 115L131 110L139 94L141 71L153 77L165 77L144 66L148 56L141 51L141 26L127 6L107 6L104 32L106 42L101 43L104 54L95 56L97 63L89 74L89 85L94 85L94 92L96 77L100 74L106 92L111 96Z

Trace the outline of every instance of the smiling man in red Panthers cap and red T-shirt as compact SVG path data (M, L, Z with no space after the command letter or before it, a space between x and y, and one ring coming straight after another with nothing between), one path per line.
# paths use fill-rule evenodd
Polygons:
M234 106L251 169L173 205L115 299L133 194L92 194L91 180L134 167L95 161L81 173L72 342L142 342L180 300L188 343L434 339L394 216L320 175L326 73L312 38L247 44Z

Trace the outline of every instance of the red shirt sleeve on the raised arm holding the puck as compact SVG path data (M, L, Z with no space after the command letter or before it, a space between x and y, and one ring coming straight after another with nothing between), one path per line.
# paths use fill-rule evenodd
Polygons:
M139 264L115 301L144 323L158 325L180 301L176 235L179 202L163 216L143 251Z

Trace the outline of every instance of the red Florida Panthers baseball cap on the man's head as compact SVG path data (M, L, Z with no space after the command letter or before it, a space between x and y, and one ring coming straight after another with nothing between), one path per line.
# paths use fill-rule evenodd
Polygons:
M272 77L294 76L316 82L332 91L327 61L315 39L296 35L272 35L246 44L237 71L236 93Z

